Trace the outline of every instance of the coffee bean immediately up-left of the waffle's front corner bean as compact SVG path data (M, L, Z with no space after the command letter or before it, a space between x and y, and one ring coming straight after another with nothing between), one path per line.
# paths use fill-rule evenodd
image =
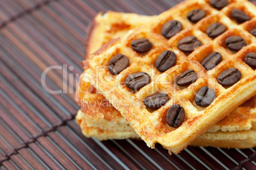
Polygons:
M144 100L144 105L147 108L157 110L166 104L169 100L169 97L166 93L155 93L154 95L147 96Z

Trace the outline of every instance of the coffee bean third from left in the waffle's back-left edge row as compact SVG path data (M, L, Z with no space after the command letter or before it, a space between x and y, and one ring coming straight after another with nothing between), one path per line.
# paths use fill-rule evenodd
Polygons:
M173 37L175 34L180 32L182 29L182 24L176 20L170 20L164 25L162 25L161 34L162 36L169 39L170 37Z

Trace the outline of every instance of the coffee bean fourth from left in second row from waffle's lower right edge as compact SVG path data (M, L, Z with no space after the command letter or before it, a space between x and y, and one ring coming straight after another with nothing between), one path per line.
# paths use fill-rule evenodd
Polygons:
M233 51L239 51L241 48L247 45L245 40L240 36L230 36L225 42L227 47Z

